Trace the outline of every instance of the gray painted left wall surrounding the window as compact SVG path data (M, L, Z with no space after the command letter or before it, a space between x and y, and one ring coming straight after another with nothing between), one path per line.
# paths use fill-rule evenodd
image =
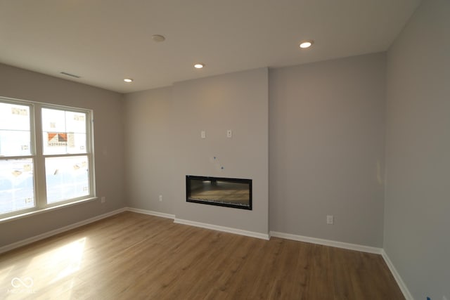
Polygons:
M125 206L120 93L0 64L0 96L94 110L96 191L107 197L0 223L0 247Z

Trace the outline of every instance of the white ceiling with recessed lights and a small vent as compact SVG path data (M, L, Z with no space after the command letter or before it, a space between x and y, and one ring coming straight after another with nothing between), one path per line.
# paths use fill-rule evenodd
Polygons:
M419 2L0 0L0 63L120 93L141 91L385 51ZM166 41L156 43L153 34ZM314 39L314 46L300 50L302 39ZM195 70L197 62L206 67Z

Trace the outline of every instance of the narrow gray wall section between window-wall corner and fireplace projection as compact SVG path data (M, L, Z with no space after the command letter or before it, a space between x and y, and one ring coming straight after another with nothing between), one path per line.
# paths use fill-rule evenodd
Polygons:
M172 181L177 133L173 126L172 87L125 97L127 204L174 214Z

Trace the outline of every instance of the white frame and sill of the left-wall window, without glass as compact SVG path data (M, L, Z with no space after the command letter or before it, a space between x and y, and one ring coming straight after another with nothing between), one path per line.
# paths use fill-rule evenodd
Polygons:
M50 209L59 207L66 207L79 202L86 202L96 200L96 186L95 186L95 170L94 170L94 112L84 108L69 107L64 105L55 105L51 103L39 103L29 100L20 100L13 98L5 98L0 96L1 103L9 103L15 105L24 105L30 107L30 152L31 155L23 156L0 156L0 160L6 159L33 159L33 181L34 181L34 207L28 209L20 209L18 211L11 211L0 214L0 222L17 219L31 214L37 214ZM75 154L58 154L58 155L44 155L43 150L43 132L42 132L42 108L53 110L65 110L70 112L79 112L86 114L86 152ZM72 198L68 200L58 201L54 203L47 203L46 195L46 171L45 159L46 157L77 157L87 156L89 160L89 195Z

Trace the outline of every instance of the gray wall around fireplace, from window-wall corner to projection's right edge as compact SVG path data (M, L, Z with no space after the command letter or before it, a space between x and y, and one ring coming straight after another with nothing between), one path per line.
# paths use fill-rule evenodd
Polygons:
M262 68L127 94L129 205L268 233L267 77ZM186 175L251 178L252 211L187 203Z

